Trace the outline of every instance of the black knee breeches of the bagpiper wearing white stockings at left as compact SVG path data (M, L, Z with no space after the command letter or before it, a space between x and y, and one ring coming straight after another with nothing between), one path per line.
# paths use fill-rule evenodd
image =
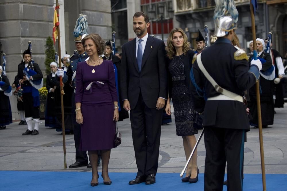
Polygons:
M34 107L34 99L32 96L32 92L23 93L23 103L24 103L24 111L25 117L32 117L33 119L40 118L39 107Z

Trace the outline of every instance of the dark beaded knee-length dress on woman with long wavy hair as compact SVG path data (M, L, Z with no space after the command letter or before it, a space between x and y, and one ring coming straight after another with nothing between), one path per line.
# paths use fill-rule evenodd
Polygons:
M168 66L172 78L172 103L174 107L175 127L178 136L194 135L195 111L191 94L186 85L183 58L184 54L174 56Z

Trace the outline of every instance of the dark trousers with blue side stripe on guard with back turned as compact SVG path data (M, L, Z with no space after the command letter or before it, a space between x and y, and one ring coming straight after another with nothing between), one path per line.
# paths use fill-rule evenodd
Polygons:
M243 129L205 127L204 190L222 190L227 162L227 190L243 190Z

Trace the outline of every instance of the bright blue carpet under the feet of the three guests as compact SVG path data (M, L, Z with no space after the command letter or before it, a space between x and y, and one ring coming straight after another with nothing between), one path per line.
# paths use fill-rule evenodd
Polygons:
M90 186L91 172L34 172L0 171L0 190L203 190L203 175L199 182L189 184L181 182L178 173L158 173L156 184L128 185L135 178L135 173L109 173L111 185L104 185L99 178L99 185ZM101 175L100 175L101 176ZM243 190L262 190L261 174L245 174ZM287 174L266 174L267 190L287 190ZM223 190L227 190L224 186Z

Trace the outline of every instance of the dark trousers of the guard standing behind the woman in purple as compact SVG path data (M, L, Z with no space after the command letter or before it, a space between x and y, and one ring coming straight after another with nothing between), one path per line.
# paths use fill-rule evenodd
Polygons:
M79 151L80 140L81 140L81 125L76 122L75 114L75 93L72 93L72 118L74 123L74 139L76 148L76 161L82 164L88 164L87 151Z

